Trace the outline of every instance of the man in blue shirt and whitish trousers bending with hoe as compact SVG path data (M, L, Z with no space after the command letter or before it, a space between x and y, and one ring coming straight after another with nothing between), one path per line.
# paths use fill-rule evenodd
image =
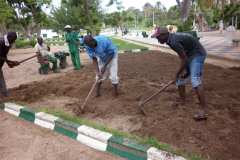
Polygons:
M89 57L93 60L93 65L96 68L97 84L96 97L100 96L100 88L102 80L107 77L111 79L114 95L118 96L118 54L117 48L112 41L105 36L91 35L84 37L86 50Z

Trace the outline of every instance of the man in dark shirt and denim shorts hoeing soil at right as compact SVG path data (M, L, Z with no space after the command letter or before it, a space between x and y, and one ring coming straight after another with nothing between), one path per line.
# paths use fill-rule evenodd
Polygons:
M167 28L157 28L152 37L157 38L161 44L167 43L171 49L177 52L181 59L181 65L176 73L175 80L178 86L181 102L185 101L185 84L190 76L192 87L200 102L201 110L194 115L195 120L206 120L206 102L201 81L202 69L206 58L206 51L201 43L184 33L169 33Z

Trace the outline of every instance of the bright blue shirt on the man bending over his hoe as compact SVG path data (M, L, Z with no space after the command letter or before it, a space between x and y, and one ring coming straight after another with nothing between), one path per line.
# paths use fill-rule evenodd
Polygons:
M90 58L98 57L103 63L105 63L109 56L115 56L117 54L117 47L108 37L96 36L94 39L97 41L97 47L86 47Z

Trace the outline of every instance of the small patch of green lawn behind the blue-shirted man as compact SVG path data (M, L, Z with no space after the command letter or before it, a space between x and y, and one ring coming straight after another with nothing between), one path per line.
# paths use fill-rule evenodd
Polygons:
M117 38L110 37L113 43L117 46L118 50L132 50L132 49L146 49L144 46L129 43Z

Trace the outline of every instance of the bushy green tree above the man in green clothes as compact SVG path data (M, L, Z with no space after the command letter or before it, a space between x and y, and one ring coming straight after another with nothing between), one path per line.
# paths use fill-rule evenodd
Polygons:
M99 0L63 0L60 8L52 11L53 28L63 30L65 25L86 29L96 34L102 23Z

